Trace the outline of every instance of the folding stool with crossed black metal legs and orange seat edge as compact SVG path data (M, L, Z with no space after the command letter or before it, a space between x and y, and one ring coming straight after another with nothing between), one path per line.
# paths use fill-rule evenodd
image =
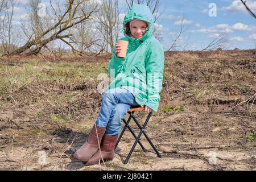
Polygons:
M133 137L135 138L135 143L133 144L133 147L131 147L131 150L127 156L127 158L125 159L125 164L128 163L128 160L130 159L131 154L134 151L134 148L136 147L137 143L139 143L139 145L141 146L142 150L144 152L147 152L146 148L142 145L141 141L139 140L141 138L141 135L144 134L144 136L146 137L146 139L148 140L148 142L150 143L150 145L152 146L152 148L154 148L156 154L158 155L159 158L162 158L162 156L160 155L159 151L156 149L156 147L154 146L154 144L152 143L151 139L148 137L148 135L145 133L144 129L147 126L147 123L152 115L152 112L150 112L147 116L146 121L144 122L143 126L141 126L138 122L138 120L135 118L134 116L134 112L135 111L143 111L144 110L144 106L141 107L131 107L131 109L129 109L127 111L127 113L130 115L128 120L126 121L125 118L122 119L122 121L125 123L125 126L123 127L123 130L121 132L121 134L119 135L118 139L117 139L117 143L115 144L115 148L117 148L118 143L120 142L123 133L125 133L126 128L128 127L128 129L130 130L131 134L133 134ZM139 132L138 137L135 135L133 129L131 129L131 126L129 125L131 118L133 118L133 120L135 121L135 123L137 124L137 126L139 127L139 129L141 129L141 131Z

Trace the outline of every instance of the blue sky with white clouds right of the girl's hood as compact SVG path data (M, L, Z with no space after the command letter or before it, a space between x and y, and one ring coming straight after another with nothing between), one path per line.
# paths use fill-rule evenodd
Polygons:
M256 13L256 1L247 0L247 5ZM162 44L167 49L180 30L180 21L184 16L184 28L177 42L177 49L200 50L221 32L228 38L225 49L256 48L256 19L247 13L240 0L196 1L196 0L160 0L159 12L163 12L156 21L158 32L162 35ZM209 16L210 3L216 5L216 16Z

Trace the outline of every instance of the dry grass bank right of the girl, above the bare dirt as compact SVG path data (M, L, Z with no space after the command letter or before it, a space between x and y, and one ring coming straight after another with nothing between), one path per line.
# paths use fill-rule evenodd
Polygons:
M204 52L201 55L177 53L171 59L167 53L164 90L170 95L183 93L185 98L196 101L195 104L207 104L223 96L240 96L241 99L256 92L253 51L236 57L229 56L230 52L222 51L221 55L225 56L208 53L208 59L204 58Z

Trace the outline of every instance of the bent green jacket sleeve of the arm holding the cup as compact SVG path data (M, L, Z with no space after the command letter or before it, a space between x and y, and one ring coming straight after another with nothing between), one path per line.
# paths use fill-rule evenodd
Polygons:
M110 77L115 78L115 76L117 76L124 62L125 62L125 58L117 57L115 55L115 47L114 47L112 52L112 58L109 61L109 67L108 67L108 72Z

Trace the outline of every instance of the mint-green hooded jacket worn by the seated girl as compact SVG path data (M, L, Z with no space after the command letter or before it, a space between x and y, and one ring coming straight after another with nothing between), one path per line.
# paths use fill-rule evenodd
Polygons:
M152 36L154 17L146 5L134 5L123 20L123 25L133 19L150 23L146 34L136 39L125 34L129 42L126 58L117 57L115 48L109 61L108 72L114 80L108 88L125 88L133 93L139 105L157 111L163 83L164 51L159 41Z

